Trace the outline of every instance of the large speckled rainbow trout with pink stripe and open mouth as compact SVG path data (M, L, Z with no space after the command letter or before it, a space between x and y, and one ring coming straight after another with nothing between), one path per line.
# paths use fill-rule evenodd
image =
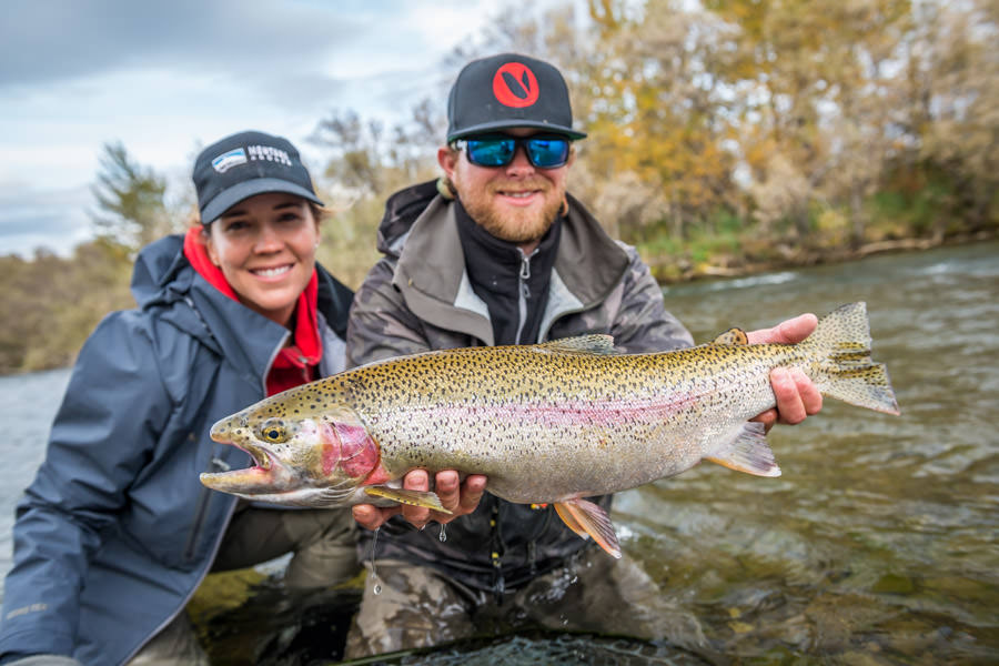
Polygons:
M216 442L255 465L201 482L241 497L312 507L406 503L414 468L485 474L488 492L552 503L584 538L620 556L607 514L586 497L633 488L703 460L778 476L764 427L769 373L800 367L824 395L888 414L898 404L870 359L864 303L823 317L798 344L747 344L733 329L665 353L616 353L607 335L466 347L355 367L219 421Z

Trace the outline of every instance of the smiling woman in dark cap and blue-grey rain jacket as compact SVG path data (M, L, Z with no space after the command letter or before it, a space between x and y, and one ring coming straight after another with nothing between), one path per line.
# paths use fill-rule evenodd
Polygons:
M206 664L184 605L210 571L294 551L285 581L310 587L357 567L349 512L199 482L249 462L216 420L343 369L353 294L315 263L322 202L285 139L222 139L193 178L201 223L140 253L139 309L84 344L18 505L0 663Z

